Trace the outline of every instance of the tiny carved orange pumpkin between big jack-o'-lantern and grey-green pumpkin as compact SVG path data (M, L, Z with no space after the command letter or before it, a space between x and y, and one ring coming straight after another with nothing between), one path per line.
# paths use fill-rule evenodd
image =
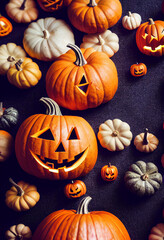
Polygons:
M104 181L107 182L114 181L117 178L117 176L118 176L117 167L111 165L111 163L101 168L101 177Z

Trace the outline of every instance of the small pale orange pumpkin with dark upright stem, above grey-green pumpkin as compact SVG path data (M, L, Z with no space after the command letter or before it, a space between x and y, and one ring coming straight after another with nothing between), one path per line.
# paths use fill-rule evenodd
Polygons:
M134 145L140 152L153 152L159 144L159 140L152 133L145 129L144 133L140 133L134 139Z

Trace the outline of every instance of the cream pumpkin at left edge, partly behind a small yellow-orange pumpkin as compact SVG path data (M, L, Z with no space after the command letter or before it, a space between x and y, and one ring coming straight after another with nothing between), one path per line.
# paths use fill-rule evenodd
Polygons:
M24 59L26 53L22 47L15 43L7 43L0 46L0 74L6 74L10 67L21 58Z

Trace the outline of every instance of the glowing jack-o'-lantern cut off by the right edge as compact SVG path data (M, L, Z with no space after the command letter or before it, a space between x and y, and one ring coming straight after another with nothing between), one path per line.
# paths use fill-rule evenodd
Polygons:
M164 54L164 21L142 23L136 32L138 49L149 56L159 57Z

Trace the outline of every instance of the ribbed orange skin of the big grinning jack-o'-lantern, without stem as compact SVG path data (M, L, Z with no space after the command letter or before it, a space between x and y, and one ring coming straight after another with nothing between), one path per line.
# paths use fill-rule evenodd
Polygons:
M71 129L74 127L77 129L79 139L68 140ZM49 128L54 140L43 140L34 136L39 131ZM30 137L32 135L33 137ZM65 151L56 152L55 150L61 142ZM39 164L30 152L31 150L35 155L44 156L54 159L54 162L62 163L65 159L74 160L75 155L82 153L86 149L88 149L86 158L79 166L69 171L61 168L57 173L51 172ZM94 167L98 152L94 131L85 119L76 116L45 114L33 115L22 123L16 135L15 151L17 160L24 171L36 177L51 180L73 179L86 175Z

